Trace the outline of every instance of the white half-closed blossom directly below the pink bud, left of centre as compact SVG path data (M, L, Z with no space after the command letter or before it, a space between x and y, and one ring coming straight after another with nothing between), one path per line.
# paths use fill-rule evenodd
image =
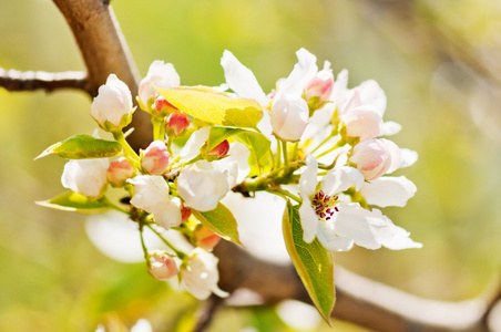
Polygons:
M171 199L168 186L162 176L139 175L127 183L134 185L133 206L153 214L156 224L165 229L181 225L180 207Z

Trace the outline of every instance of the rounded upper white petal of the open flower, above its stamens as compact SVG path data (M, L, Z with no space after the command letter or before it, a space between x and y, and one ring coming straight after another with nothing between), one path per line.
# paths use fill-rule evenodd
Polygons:
M364 175L354 167L342 166L334 169L321 180L321 189L329 196L337 195L355 186L358 190L364 186Z

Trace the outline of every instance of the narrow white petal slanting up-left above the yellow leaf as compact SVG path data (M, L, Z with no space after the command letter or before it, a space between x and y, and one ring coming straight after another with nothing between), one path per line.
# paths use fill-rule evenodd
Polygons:
M221 59L224 76L228 86L238 96L257 101L262 106L268 105L268 98L257 83L254 73L243 65L229 51L224 51Z

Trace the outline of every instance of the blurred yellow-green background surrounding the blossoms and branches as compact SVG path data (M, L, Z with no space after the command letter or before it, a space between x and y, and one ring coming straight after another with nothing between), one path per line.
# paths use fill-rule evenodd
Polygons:
M441 300L477 297L501 267L501 3L498 0L115 0L140 72L172 62L184 85L224 82L231 50L265 91L306 48L349 70L349 86L386 91L393 137L419 153L400 172L418 193L385 212L420 250L337 253L347 269ZM0 66L83 70L70 30L49 0L0 3ZM39 207L63 188L64 160L33 158L76 133L92 133L90 98L74 91L0 87L0 331L94 331L146 318L154 331L190 324L196 301L155 282L143 264L104 257L83 217ZM181 322L176 324L175 322ZM211 331L295 331L269 309L226 309ZM321 331L333 331L320 324ZM334 331L347 331L337 322Z

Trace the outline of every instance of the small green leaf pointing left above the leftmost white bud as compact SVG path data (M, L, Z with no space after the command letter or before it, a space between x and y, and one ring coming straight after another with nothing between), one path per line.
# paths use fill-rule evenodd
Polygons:
M67 159L106 158L122 151L120 143L95 138L91 135L74 135L49 146L35 159L58 155Z

